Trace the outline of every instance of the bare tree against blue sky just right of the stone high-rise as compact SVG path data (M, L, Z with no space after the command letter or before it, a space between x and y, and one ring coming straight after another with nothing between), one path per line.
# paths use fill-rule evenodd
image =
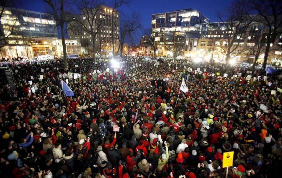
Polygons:
M140 23L140 14L133 12L129 17L124 18L121 20L119 33L118 36L119 45L118 45L118 52L120 52L120 56L123 55L123 44L124 40L128 38L129 40L133 39L133 34L136 32L138 28L141 28Z

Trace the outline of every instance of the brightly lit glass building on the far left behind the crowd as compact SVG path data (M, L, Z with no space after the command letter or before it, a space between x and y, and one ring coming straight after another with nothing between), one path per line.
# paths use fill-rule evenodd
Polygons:
M47 54L52 46L46 42L58 36L55 21L50 14L5 8L1 18L2 33L8 36L2 44L2 57L33 58L35 54Z

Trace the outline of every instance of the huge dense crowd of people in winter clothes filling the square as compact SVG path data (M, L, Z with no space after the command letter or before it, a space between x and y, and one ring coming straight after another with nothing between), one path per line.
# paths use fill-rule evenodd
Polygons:
M61 60L2 64L16 89L0 106L0 177L281 177L281 71L233 67L226 76L217 64L118 61L119 69L91 58L68 59L67 70Z

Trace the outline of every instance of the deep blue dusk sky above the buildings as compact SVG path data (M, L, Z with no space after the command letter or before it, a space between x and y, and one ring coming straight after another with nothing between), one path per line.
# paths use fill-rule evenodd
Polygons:
M23 8L38 12L48 12L46 3L43 0L17 0L18 8ZM185 8L193 8L200 11L210 19L210 22L219 21L217 11L226 12L233 0L132 0L131 3L123 5L119 10L122 14L131 14L133 11L140 13L142 28L151 28L151 15L154 13L164 13ZM104 0L106 4L112 0ZM143 29L140 29L134 38L134 45L139 43ZM60 34L59 34L60 36Z

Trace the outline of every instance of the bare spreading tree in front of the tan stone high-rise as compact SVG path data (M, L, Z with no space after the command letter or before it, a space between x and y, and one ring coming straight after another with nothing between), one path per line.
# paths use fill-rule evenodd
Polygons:
M69 23L73 28L80 28L83 32L90 35L93 45L93 58L96 59L96 36L105 18L100 18L102 12L101 3L98 0L79 0L72 4L78 8L80 13L73 15L73 22Z

